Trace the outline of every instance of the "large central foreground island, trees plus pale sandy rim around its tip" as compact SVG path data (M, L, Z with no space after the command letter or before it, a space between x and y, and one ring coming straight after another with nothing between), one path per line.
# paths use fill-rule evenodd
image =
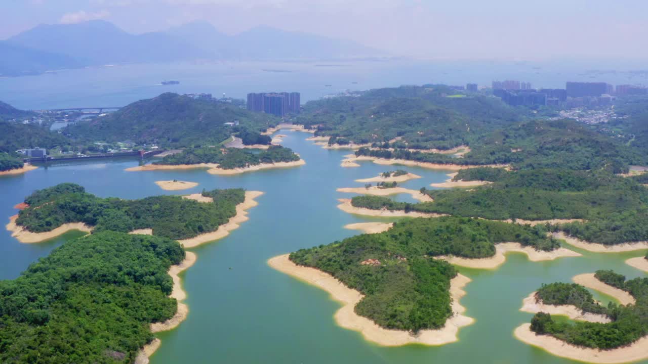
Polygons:
M516 240L540 251L559 247L540 226L447 216L402 220L380 233L300 249L269 264L342 301L336 322L369 341L442 345L472 323L459 305L469 280L443 258L487 258L498 243Z

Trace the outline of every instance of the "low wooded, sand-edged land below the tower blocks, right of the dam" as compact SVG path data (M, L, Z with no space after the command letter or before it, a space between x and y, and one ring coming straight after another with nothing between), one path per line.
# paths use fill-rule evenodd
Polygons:
M127 171L209 168L209 174L241 174L269 168L305 165L290 148L273 145L259 153L240 148L188 148L178 154L166 155L150 165L126 168Z

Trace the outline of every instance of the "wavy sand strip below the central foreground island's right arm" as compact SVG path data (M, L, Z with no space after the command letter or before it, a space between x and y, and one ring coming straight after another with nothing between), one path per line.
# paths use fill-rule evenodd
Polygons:
M531 262L542 262L545 260L555 260L566 258L568 256L581 256L575 251L563 247L553 251L537 251L533 247L525 247L520 243L500 243L495 244L495 255L490 258L462 258L460 256L437 256L437 259L446 260L455 266L467 267L472 269L495 269L506 261L506 253L517 252L524 253Z

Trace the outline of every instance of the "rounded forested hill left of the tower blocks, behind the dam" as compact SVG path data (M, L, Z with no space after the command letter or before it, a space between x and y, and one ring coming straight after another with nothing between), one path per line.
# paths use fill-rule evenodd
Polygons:
M236 122L238 126L226 126ZM65 130L73 138L106 142L132 141L163 148L216 145L232 133L265 131L279 119L237 106L200 100L175 93L140 100L91 122Z

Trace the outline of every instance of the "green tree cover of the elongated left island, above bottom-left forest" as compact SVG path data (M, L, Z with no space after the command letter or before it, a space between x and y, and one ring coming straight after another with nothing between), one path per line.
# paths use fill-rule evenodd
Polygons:
M93 233L152 229L155 236L188 239L227 223L245 200L245 191L211 190L203 191L202 196L213 201L204 203L181 196L98 198L79 185L62 183L25 198L29 207L19 212L16 225L30 233L45 233L66 223L84 223Z

